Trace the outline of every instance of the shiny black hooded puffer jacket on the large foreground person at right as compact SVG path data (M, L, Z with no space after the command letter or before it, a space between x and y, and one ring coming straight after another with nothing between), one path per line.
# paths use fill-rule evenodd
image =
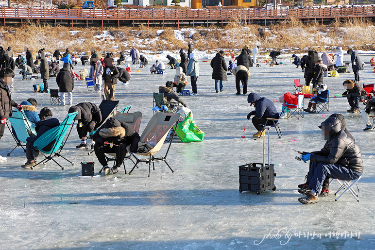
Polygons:
M321 155L311 154L310 161L326 164L338 163L355 172L363 173L362 155L358 145L342 130L341 121L336 117L328 117L322 126L331 127L331 135L327 147L320 150Z

